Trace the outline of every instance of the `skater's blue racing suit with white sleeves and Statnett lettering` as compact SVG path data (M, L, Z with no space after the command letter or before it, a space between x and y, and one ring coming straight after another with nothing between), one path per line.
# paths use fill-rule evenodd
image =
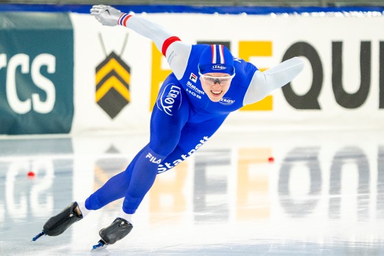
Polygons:
M199 79L199 59L210 45L181 42L162 27L139 16L127 16L124 25L152 39L166 56L172 73L163 82L150 120L149 143L135 156L124 172L113 176L85 202L87 209L100 209L124 197L123 211L135 213L140 202L161 172L170 170L207 142L229 113L258 102L273 89L290 82L302 71L300 58L286 60L265 72L234 58L236 75L229 91L212 102Z

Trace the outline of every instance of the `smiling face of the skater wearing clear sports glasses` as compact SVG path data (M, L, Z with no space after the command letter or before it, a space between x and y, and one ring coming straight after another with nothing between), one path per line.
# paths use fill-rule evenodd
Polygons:
M201 87L212 102L218 102L229 90L232 78L227 73L205 73L200 75Z

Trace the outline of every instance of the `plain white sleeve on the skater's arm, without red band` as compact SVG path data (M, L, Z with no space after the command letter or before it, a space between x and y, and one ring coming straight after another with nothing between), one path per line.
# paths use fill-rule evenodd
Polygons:
M303 69L304 61L299 57L294 57L267 71L256 71L242 104L245 106L264 99L271 91L291 82Z

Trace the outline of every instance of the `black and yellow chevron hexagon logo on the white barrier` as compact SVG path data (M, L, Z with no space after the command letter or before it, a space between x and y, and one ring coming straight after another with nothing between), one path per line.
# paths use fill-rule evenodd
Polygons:
M96 67L96 102L111 117L131 102L131 68L112 51Z

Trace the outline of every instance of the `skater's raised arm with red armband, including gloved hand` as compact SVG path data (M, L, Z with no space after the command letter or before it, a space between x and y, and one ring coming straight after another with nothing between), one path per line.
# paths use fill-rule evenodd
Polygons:
M93 5L91 15L102 25L122 25L153 40L157 49L166 56L167 61L177 79L183 77L188 64L192 45L181 42L180 38L166 29L140 16L120 12L109 5Z

